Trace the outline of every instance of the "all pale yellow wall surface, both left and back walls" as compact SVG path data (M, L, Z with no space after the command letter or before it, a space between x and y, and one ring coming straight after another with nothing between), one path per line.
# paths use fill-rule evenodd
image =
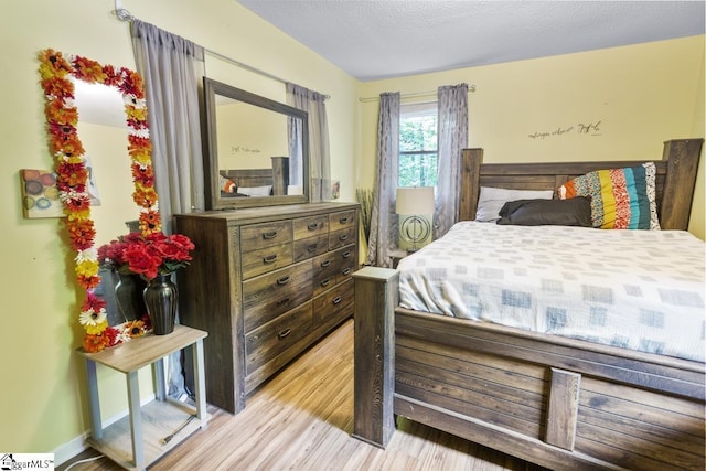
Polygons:
M332 178L341 180L343 201L353 200L356 182L372 186L377 105L360 103L357 97L383 90L475 84L478 92L469 100L470 144L485 148L489 161L655 158L663 140L704 136L703 36L359 83L233 0L122 3L143 21L331 95ZM83 297L76 292L73 255L58 220L24 220L21 211L19 170L53 163L46 150L35 56L53 47L116 66L135 68L135 61L128 24L110 14L113 0L7 0L3 7L0 178L4 184L0 195L6 202L1 233L6 277L0 291L4 312L0 443L4 451L56 451L62 461L68 458L62 453L69 443L79 442L88 428L84 375L73 353L81 341L77 313ZM206 75L285 101L282 84L213 55L206 58ZM597 121L601 121L601 136L528 138ZM700 195L695 201L695 213L702 217L694 217L697 227L693 229L702 237L703 173L702 163ZM107 392L105 416L120 414L127 407L122 377L99 373Z

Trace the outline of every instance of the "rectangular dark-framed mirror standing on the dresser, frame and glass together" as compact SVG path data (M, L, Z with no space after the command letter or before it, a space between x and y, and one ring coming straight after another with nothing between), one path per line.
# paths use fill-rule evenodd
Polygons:
M204 78L206 210L309 201L306 111Z

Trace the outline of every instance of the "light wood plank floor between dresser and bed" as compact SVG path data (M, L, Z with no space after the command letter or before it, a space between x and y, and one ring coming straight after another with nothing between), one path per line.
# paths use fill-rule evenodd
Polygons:
M543 470L404 418L385 450L352 438L352 320L256 390L237 416L208 411L208 426L150 470ZM101 458L72 471L119 469Z

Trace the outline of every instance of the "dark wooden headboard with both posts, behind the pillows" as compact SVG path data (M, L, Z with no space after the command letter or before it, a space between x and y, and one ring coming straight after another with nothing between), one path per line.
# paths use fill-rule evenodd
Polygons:
M664 229L688 228L696 172L704 139L675 139L664 142L656 165L656 202L660 225ZM550 163L483 163L483 149L463 149L459 221L475 218L481 186L514 190L556 190L567 180L584 173L644 161Z

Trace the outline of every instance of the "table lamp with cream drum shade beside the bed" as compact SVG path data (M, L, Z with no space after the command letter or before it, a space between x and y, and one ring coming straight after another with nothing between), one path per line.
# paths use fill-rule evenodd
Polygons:
M399 247L417 251L431 239L434 186L398 188L395 212L399 215Z

